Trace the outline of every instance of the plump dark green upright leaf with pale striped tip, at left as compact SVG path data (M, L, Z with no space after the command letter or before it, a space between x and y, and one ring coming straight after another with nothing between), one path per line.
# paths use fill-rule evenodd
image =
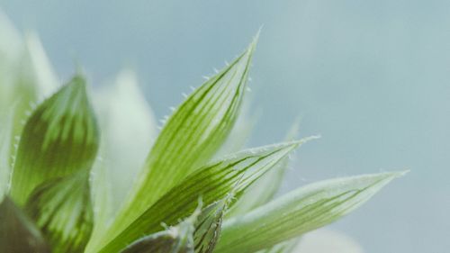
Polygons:
M23 204L37 185L89 169L98 135L85 78L76 76L40 104L26 122L14 164L13 199Z

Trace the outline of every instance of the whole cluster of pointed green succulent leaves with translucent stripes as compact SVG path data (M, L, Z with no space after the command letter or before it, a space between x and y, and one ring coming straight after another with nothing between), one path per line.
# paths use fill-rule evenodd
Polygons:
M257 39L156 134L132 73L103 92L81 73L59 86L37 37L22 41L2 25L12 42L0 44L0 69L14 70L0 77L5 252L289 253L404 174L331 179L275 198L289 155L317 138L298 140L296 128L284 142L229 145L217 157L250 132L236 130L248 129L237 122Z

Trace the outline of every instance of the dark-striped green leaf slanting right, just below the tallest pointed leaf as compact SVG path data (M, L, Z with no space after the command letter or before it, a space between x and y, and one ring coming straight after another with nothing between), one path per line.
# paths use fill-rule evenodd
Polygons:
M103 237L103 245L107 245L101 252L114 252L143 234L156 232L161 222L175 224L193 212L199 196L202 196L202 201L207 206L224 198L231 191L239 196L248 185L305 141L248 149L200 168L175 185L125 230L117 230L112 226ZM90 252L96 251L98 250Z

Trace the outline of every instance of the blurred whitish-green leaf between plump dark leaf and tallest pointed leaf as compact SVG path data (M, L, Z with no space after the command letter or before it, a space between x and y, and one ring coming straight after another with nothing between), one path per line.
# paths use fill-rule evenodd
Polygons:
M129 194L157 136L156 124L131 70L122 70L115 84L95 98L102 130L102 158L114 185L112 202L117 209Z

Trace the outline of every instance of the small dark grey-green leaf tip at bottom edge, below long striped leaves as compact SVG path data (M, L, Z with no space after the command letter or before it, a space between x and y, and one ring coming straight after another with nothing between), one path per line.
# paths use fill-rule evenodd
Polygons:
M193 253L194 222L198 212L174 227L133 242L121 253Z

